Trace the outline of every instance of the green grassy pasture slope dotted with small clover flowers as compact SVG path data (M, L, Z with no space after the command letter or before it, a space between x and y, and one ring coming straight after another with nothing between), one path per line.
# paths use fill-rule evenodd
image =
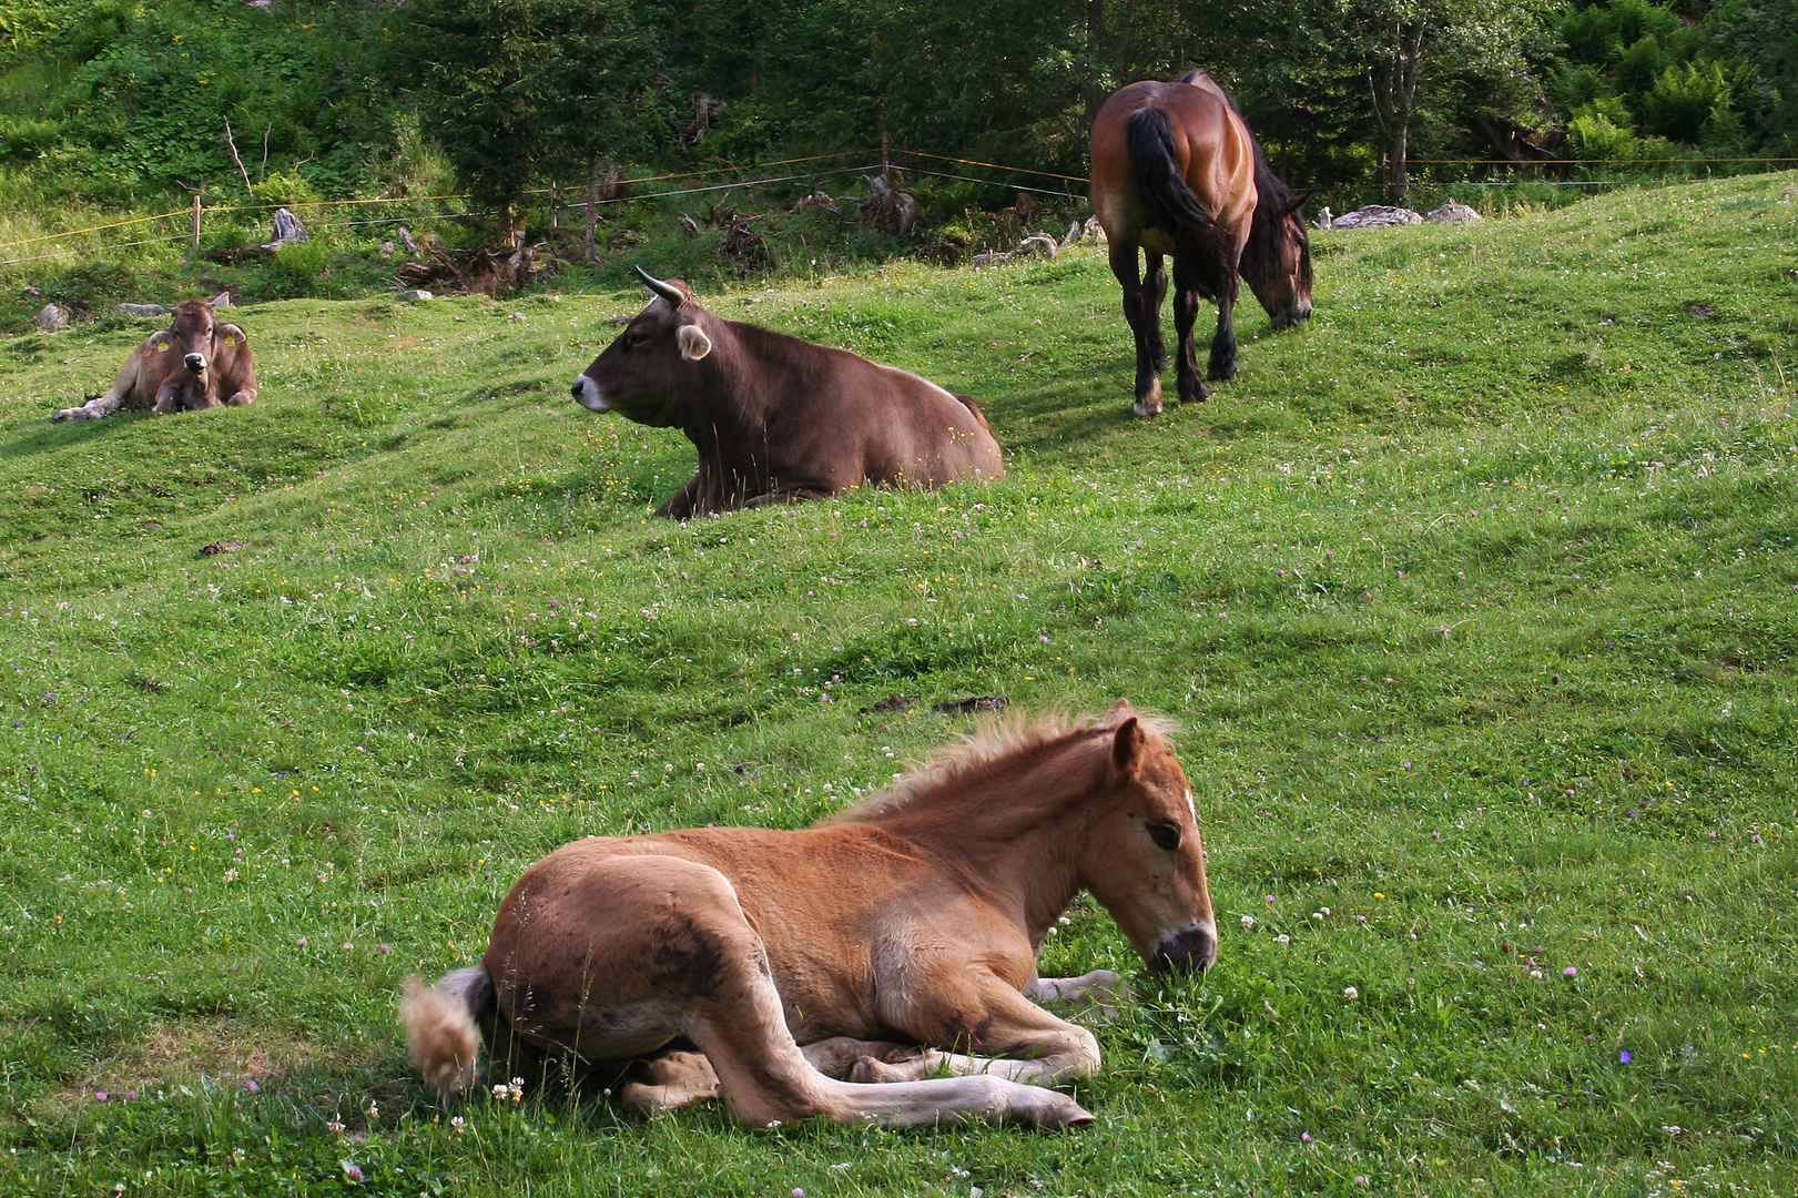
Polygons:
M689 527L690 448L565 398L631 295L248 308L254 408L79 428L140 333L0 345L0 1189L1789 1189L1794 241L1793 174L1338 234L1156 423L1093 252L716 299L1014 468ZM405 973L556 844L804 824L966 730L895 691L1187 725L1223 957L1072 912L1045 971L1140 991L1095 1128L437 1122Z

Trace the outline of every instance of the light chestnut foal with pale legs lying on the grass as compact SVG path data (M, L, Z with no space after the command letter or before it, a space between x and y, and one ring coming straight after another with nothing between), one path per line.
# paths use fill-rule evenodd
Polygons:
M401 1020L446 1094L473 1081L478 1025L527 1076L647 1058L620 1095L642 1112L723 1092L753 1126L1090 1122L1021 1085L1099 1068L1093 1034L1027 997L1118 988L1036 977L1081 890L1151 970L1217 957L1192 790L1127 703L992 729L809 829L565 845L507 894L480 964L408 982Z

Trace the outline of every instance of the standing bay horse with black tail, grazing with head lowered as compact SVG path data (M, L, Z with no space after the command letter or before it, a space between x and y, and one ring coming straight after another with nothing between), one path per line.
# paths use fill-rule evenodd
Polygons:
M1133 83L1093 119L1093 212L1106 230L1124 317L1136 335L1136 416L1162 410L1163 257L1174 259L1179 399L1206 398L1192 353L1199 297L1217 304L1206 378L1235 378L1239 279L1275 329L1311 317L1311 241L1235 101L1203 70L1179 83ZM1136 275L1136 250L1144 272Z

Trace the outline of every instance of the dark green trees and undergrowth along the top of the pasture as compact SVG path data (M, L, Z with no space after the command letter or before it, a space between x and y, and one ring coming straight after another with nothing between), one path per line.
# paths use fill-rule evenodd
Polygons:
M881 135L1081 174L1106 95L1190 67L1368 198L1417 158L1798 155L1798 0L0 0L0 162L144 201L439 153L502 212Z

